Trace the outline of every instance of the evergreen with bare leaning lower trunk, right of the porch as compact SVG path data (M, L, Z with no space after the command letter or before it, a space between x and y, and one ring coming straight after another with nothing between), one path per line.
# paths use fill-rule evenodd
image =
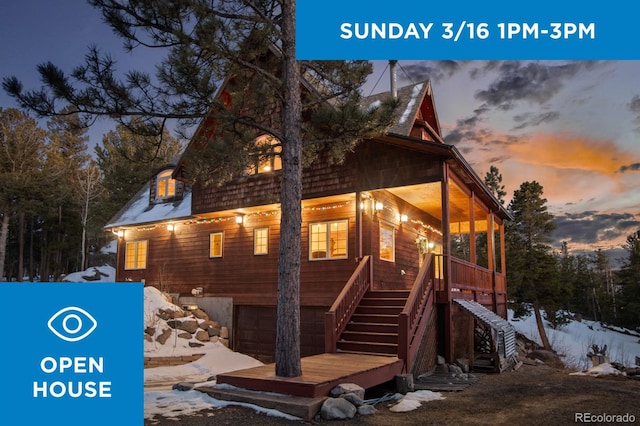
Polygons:
M555 259L548 245L555 228L547 211L543 188L536 181L524 182L514 191L507 224L507 283L509 294L519 303L531 303L542 344L551 350L542 321L541 308L555 308L557 294Z

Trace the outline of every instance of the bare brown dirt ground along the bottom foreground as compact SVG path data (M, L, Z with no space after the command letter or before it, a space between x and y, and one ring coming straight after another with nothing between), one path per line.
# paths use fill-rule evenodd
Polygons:
M547 365L522 365L516 371L484 375L459 392L443 392L444 400L422 403L406 413L389 411L393 403L376 406L370 416L351 420L289 421L249 408L206 410L178 419L155 418L145 425L567 425L640 424L640 380L622 376L588 377ZM379 390L378 390L379 391ZM366 396L367 398L369 395ZM587 414L588 413L588 414ZM616 418L611 416L623 416ZM603 417L607 415L609 417ZM600 418L598 418L600 416ZM589 421L580 421L583 420ZM598 421L598 420L604 421ZM629 422L627 422L629 424Z

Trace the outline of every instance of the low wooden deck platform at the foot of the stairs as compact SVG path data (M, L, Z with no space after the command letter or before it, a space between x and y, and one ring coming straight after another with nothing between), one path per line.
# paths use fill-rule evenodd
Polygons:
M325 353L304 357L302 375L278 377L275 364L219 374L216 383L243 389L276 392L306 398L329 395L340 383L355 383L365 389L393 380L402 373L404 361L395 356Z

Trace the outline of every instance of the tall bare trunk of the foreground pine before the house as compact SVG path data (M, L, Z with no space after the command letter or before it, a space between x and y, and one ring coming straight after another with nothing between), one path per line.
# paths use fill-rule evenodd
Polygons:
M302 140L300 68L296 62L296 8L282 2L284 102L282 182L276 329L276 375L302 374L300 361L300 232L302 227Z

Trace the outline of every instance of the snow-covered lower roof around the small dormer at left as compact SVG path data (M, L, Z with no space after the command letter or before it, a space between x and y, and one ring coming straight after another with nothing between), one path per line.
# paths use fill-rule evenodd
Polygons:
M111 222L105 225L105 228L142 225L191 217L191 190L189 188L185 188L184 197L181 200L161 204L149 203L149 188L150 184L147 183L135 197L118 212Z

